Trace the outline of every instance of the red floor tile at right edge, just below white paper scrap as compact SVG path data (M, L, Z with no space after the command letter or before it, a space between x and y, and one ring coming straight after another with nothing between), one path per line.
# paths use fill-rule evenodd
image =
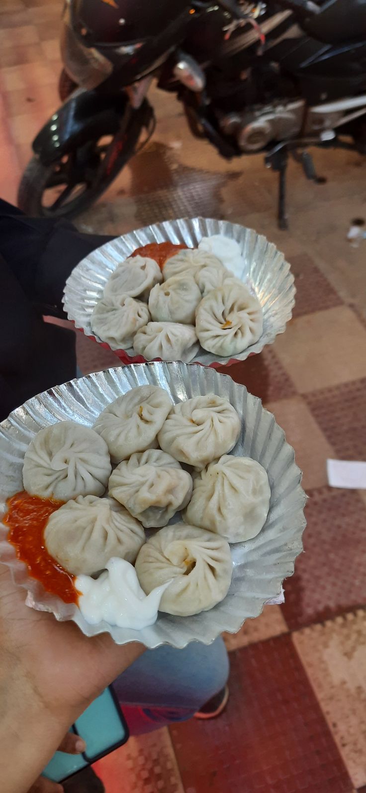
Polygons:
M357 492L311 490L305 553L284 582L282 607L290 630L330 619L366 600L366 508Z

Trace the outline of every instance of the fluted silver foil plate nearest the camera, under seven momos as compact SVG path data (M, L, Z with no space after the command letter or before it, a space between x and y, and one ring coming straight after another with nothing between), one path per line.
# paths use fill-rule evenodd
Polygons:
M163 643L173 647L184 647L193 641L209 644L223 630L235 633L245 619L260 615L264 604L280 595L284 578L294 572L306 525L303 515L306 496L292 446L286 442L284 431L272 413L262 408L261 400L231 377L192 364L139 364L90 374L32 397L0 424L1 515L6 512L6 499L23 489L25 450L36 432L66 419L91 426L112 400L136 385L145 384L166 389L174 403L208 393L227 397L242 418L242 434L231 454L254 458L268 473L269 515L257 537L231 545L234 569L227 597L211 611L193 617L159 613L153 626L140 631L112 627L104 622L90 626L78 607L48 594L38 581L29 577L28 569L6 540L8 529L4 523L0 523L0 558L12 569L16 583L28 590L29 605L51 611L60 620L73 619L87 636L108 631L118 644L140 641L151 648Z

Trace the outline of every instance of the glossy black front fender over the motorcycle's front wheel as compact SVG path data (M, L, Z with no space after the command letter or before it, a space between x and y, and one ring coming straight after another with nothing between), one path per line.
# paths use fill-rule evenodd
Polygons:
M89 140L113 135L120 126L128 98L78 90L51 116L33 140L32 148L44 165L51 165Z

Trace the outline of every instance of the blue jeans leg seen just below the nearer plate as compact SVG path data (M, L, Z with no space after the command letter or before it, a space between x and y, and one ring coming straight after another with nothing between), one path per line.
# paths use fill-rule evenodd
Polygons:
M222 638L212 645L149 649L113 687L131 735L191 718L226 684L229 659Z

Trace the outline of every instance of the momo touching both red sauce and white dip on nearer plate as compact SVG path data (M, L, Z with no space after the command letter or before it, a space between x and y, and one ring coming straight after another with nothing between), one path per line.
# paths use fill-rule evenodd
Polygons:
M113 499L78 496L48 518L44 542L48 553L69 573L93 575L113 556L133 563L145 532Z

